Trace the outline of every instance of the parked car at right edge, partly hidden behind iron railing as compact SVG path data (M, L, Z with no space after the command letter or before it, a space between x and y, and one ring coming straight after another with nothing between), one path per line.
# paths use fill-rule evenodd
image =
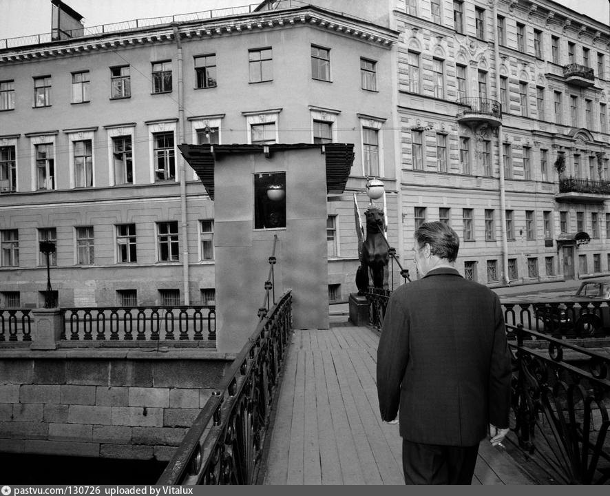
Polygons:
M534 304L545 333L582 338L610 334L610 279L586 280L574 296Z

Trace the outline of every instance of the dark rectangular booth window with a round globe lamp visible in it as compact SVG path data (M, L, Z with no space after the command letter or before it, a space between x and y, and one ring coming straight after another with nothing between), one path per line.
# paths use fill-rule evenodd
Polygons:
M286 173L254 175L254 229L286 227Z

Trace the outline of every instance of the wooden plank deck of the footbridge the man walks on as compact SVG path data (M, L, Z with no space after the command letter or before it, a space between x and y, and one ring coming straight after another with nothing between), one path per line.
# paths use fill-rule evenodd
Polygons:
M379 417L378 342L366 327L294 331L263 484L404 484L398 424ZM472 484L538 482L484 440Z

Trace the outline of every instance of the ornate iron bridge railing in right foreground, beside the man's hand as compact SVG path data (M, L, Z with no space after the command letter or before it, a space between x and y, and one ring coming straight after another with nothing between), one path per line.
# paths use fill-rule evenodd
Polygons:
M610 358L522 324L507 329L516 337L511 428L520 448L562 484L607 484Z

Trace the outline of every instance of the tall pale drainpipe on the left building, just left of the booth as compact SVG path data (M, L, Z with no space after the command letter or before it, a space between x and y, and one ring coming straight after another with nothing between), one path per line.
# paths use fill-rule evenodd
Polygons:
M180 43L180 32L178 24L172 23L173 39L176 40L178 49L178 126L176 127L178 143L185 141L185 88L182 74L182 43ZM182 284L185 293L185 305L191 304L189 291L189 232L187 229L187 180L185 177L185 159L178 154L178 171L180 174L180 229L182 231Z

